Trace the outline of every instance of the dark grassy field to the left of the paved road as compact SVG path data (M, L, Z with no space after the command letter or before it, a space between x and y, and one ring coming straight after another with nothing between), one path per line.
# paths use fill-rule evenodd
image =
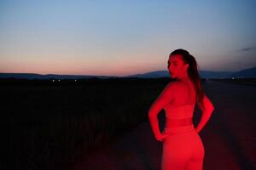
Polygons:
M148 121L170 78L0 80L0 169L70 169Z

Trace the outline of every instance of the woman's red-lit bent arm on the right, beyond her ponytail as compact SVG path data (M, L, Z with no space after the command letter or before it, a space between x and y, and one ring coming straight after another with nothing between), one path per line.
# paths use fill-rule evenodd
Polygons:
M212 102L210 101L210 99L208 99L206 94L204 95L202 105L198 104L198 106L201 109L202 114L201 114L201 120L198 123L197 127L195 127L195 130L197 133L200 133L201 129L205 127L210 117L212 116L212 111L214 111L214 106L212 105Z

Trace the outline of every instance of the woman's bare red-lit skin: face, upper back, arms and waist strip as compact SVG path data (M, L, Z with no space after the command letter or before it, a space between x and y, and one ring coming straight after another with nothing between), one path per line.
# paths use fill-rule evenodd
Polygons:
M183 104L183 100L187 99L188 90L187 84L190 89L194 89L193 82L189 79L187 74L187 69L189 64L185 64L183 62L183 58L179 54L171 55L168 59L168 71L172 78L177 78L178 81L169 82L166 85L166 88L161 92L157 99L155 99L154 103L151 105L148 110L148 119L150 122L150 126L154 133L154 138L158 141L163 141L166 138L166 134L160 132L159 122L157 115L160 113L162 109L165 109L168 105L178 105ZM189 104L195 104L195 90L189 96ZM207 95L204 95L203 105L198 105L201 109L202 116L201 121L198 123L195 130L197 133L201 132L201 129L206 125L210 116L212 115L212 111L214 107L210 99L207 98ZM178 113L177 113L178 114ZM172 120L170 124L173 127L189 125L192 123L192 120L182 119L182 120Z

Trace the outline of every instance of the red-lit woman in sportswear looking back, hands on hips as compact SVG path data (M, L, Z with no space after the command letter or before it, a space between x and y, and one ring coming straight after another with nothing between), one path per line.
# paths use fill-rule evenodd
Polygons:
M154 138L163 142L161 169L201 170L204 146L198 133L206 125L214 107L204 94L195 58L184 49L173 51L168 71L174 81L169 82L148 110ZM195 105L201 109L201 121L194 127ZM160 133L158 113L166 112L166 126Z

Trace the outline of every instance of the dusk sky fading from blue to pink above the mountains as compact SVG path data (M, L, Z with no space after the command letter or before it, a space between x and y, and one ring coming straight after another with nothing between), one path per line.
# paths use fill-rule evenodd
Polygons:
M256 66L256 1L0 0L0 72L126 76L166 70L184 48L200 70Z

